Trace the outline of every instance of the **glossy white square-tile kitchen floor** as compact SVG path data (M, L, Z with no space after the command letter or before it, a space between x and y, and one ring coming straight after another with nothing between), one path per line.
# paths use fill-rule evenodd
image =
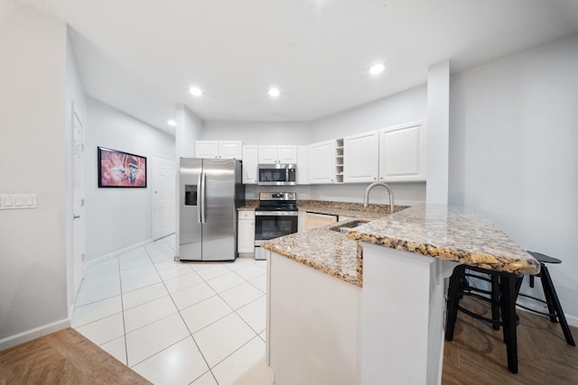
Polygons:
M89 267L72 327L154 384L272 384L266 261L175 262L174 241Z

